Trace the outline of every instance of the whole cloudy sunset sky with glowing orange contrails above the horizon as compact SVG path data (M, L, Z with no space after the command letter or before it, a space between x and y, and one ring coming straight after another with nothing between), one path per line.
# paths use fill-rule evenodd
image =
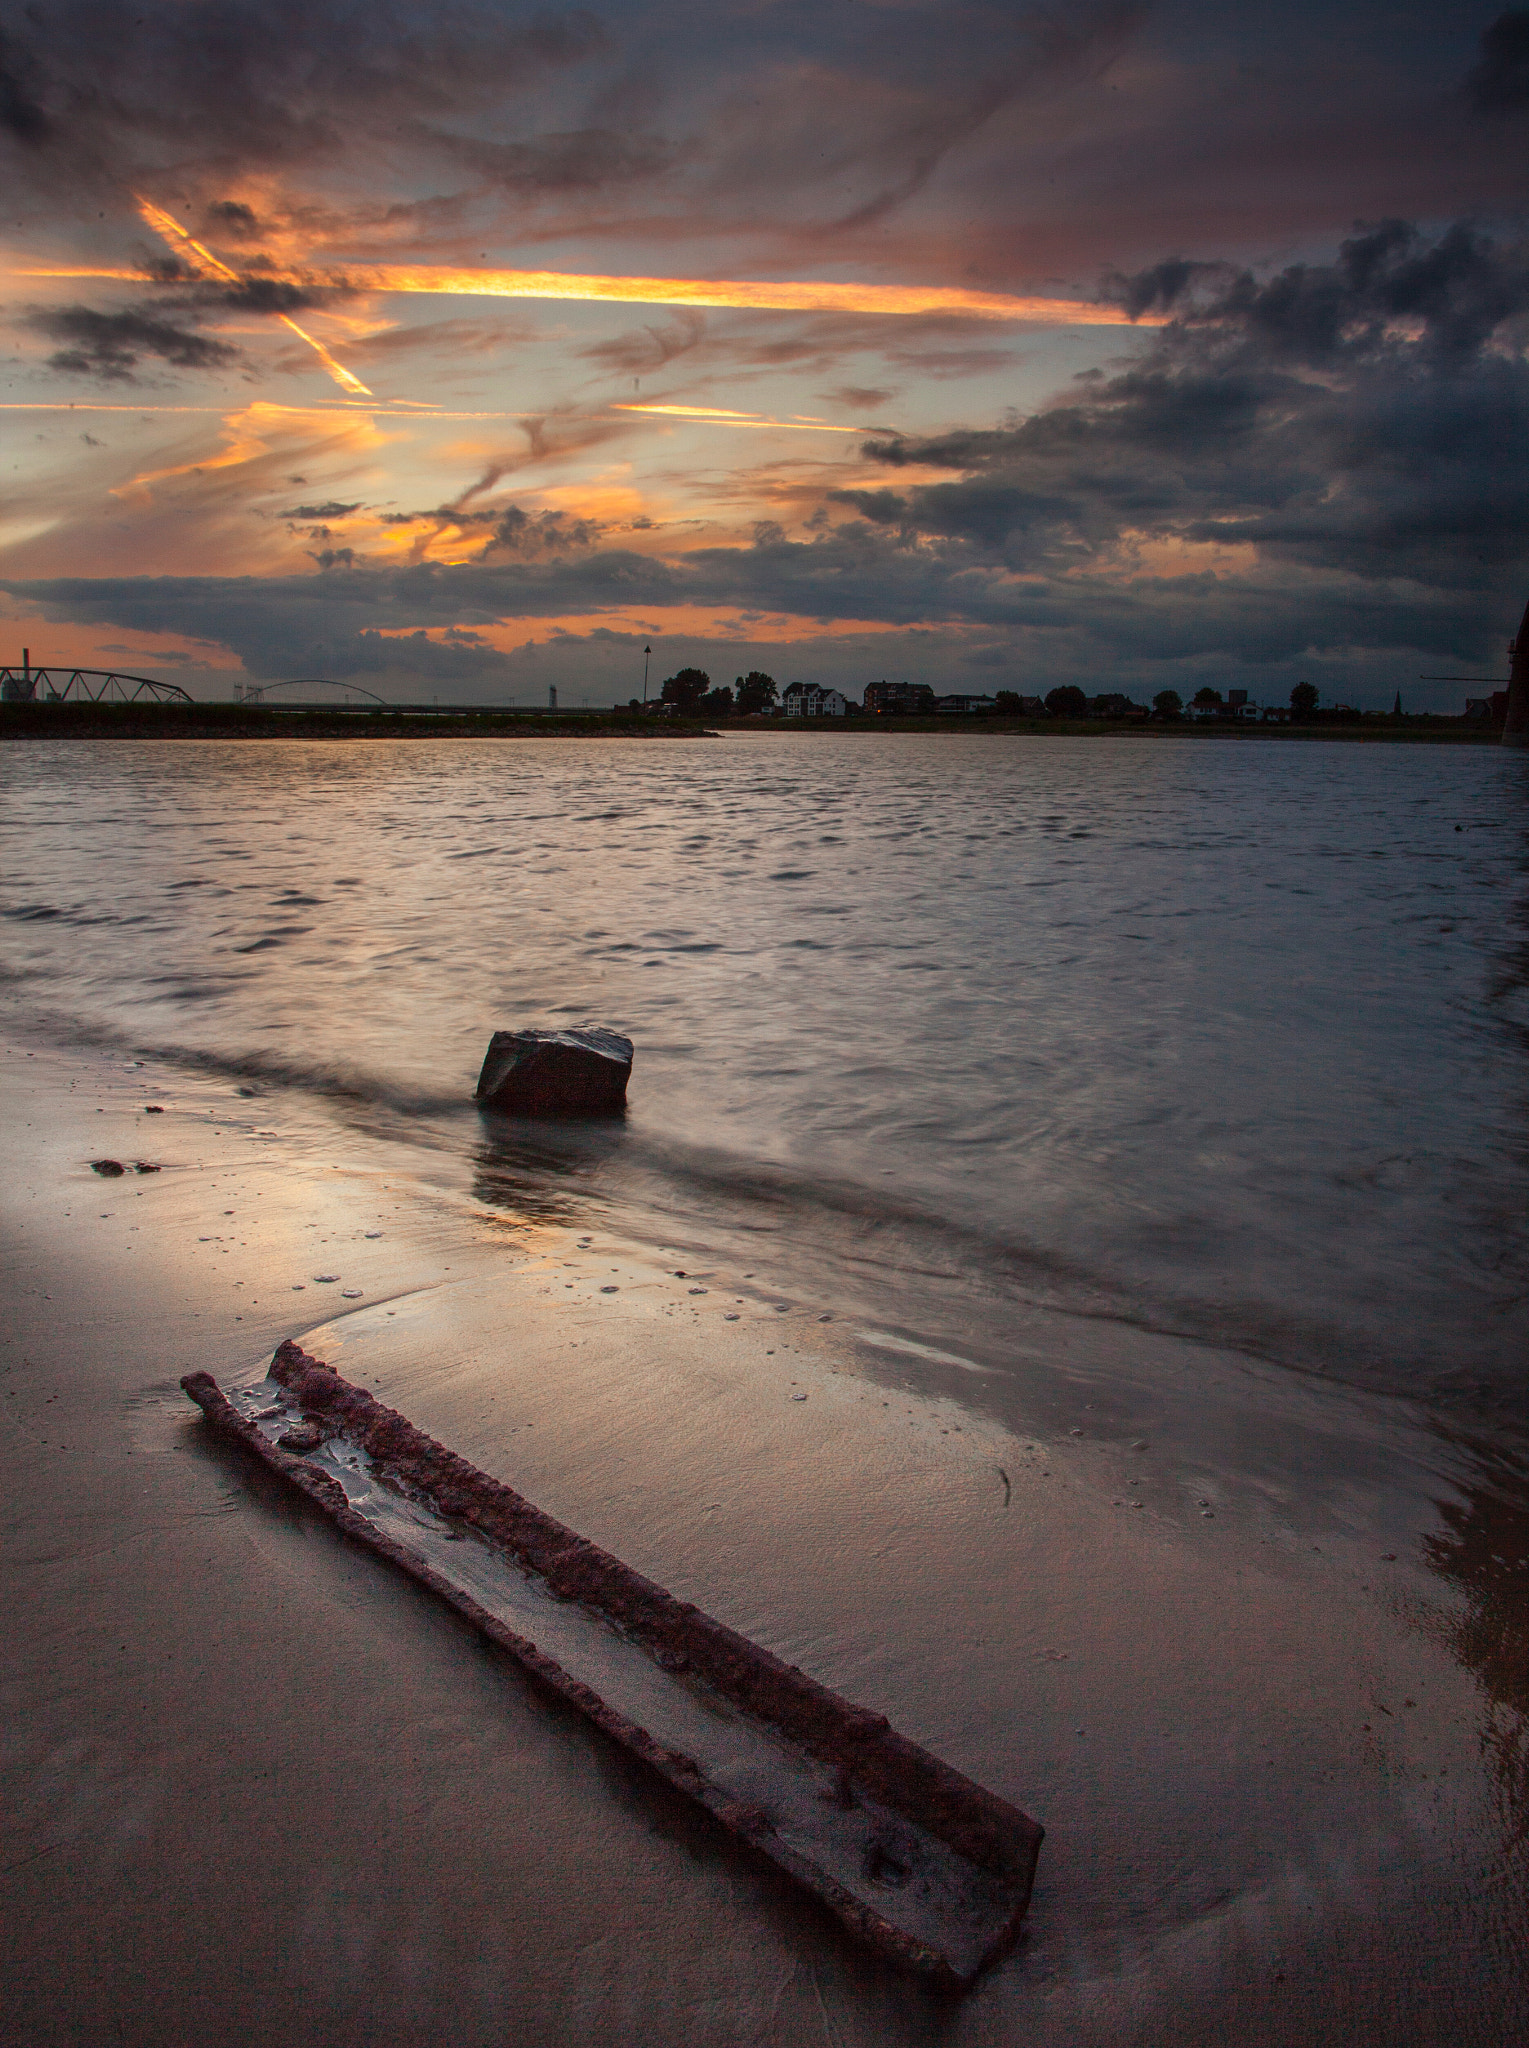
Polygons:
M0 659L1459 709L1529 12L0 6Z

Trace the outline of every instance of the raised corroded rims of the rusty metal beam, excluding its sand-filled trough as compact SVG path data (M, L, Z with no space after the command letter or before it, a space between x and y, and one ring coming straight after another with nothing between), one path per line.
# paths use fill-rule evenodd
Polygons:
M332 1366L309 1358L297 1343L287 1341L276 1350L270 1376L307 1413L342 1421L375 1464L387 1466L405 1487L418 1487L444 1516L467 1522L493 1548L542 1577L555 1593L618 1622L628 1634L639 1636L661 1665L694 1669L745 1712L772 1722L821 1761L847 1772L876 1800L937 1835L968 1862L997 1874L1013 1898L1007 1923L976 1968L958 1972L946 1954L894 1927L817 1864L798 1855L776 1835L757 1806L712 1784L694 1757L655 1741L647 1729L628 1720L534 1642L508 1628L471 1593L356 1513L338 1481L305 1458L280 1450L246 1421L211 1372L184 1374L182 1389L219 1434L233 1438L305 1493L354 1542L385 1556L418 1585L444 1599L534 1679L641 1757L675 1790L702 1804L731 1835L819 1896L860 1942L888 1962L952 1991L968 1989L1015 1942L1030 1905L1044 1837L1044 1829L1017 1806L897 1735L884 1714L854 1706L806 1677L796 1665L782 1663L737 1630L675 1599L608 1550L532 1507L512 1487L436 1444L403 1415L373 1401L364 1389L342 1380Z

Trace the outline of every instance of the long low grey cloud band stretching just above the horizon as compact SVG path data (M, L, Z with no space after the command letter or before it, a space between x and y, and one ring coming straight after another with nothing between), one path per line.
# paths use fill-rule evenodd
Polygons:
M1240 578L1015 578L960 547L913 545L868 522L811 541L763 528L749 547L669 561L600 549L540 561L377 567L330 551L325 573L309 578L51 578L0 588L49 618L221 643L252 674L297 674L319 647L330 672L348 659L346 674L364 674L377 666L366 639L377 633L473 631L612 608L657 616L680 604L739 618L878 621L933 635L946 670L962 659L962 647L987 647L991 662L1005 647L1013 659L1021 645L1032 668L1046 662L1095 676L1150 676L1159 666L1214 659L1271 666L1341 649L1484 657L1482 606L1457 594L1398 598L1380 584L1314 582L1277 565Z

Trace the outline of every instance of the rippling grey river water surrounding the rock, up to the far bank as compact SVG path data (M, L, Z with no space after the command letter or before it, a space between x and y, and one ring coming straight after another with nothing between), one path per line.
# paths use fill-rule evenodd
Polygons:
M1427 1401L1529 1356L1529 782L1490 748L8 750L8 997L530 1214L1005 1366L1013 1315ZM487 1036L637 1042L485 1133Z

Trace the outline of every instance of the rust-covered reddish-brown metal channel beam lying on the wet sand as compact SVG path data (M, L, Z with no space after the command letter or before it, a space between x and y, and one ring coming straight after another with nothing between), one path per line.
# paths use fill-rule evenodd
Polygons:
M276 1350L270 1380L280 1395L260 1413L239 1413L207 1372L190 1372L180 1384L213 1427L299 1487L356 1542L446 1599L606 1735L813 1890L878 1954L964 1989L1013 1944L1044 1833L1017 1806L899 1735L884 1714L854 1706L675 1599L297 1343ZM362 1479L366 1499L358 1507ZM399 1513L379 1526L375 1511L362 1511L385 1495L418 1528ZM458 1548L440 1548L442 1538ZM729 1772L716 1769L712 1757L688 1753L704 1743L682 1749L657 1739L489 1612L483 1583L454 1569L465 1548L477 1556L487 1550L493 1569L508 1567L516 1583L549 1595L549 1626L559 1622L557 1610L577 1608L606 1632L602 1640L614 1632L647 1653L639 1663L659 1690L684 1688L692 1700L731 1714L743 1735L757 1733L766 1765L794 1755L796 1763L782 1763L784 1794L772 1798L768 1767L743 1790L735 1772L729 1786ZM520 1618L522 1610L510 1612ZM641 1708L647 1694L639 1690L637 1698ZM655 1706L663 1720L661 1702ZM804 1786L817 1786L811 1810L802 1806ZM841 1841L835 1829L843 1829Z

